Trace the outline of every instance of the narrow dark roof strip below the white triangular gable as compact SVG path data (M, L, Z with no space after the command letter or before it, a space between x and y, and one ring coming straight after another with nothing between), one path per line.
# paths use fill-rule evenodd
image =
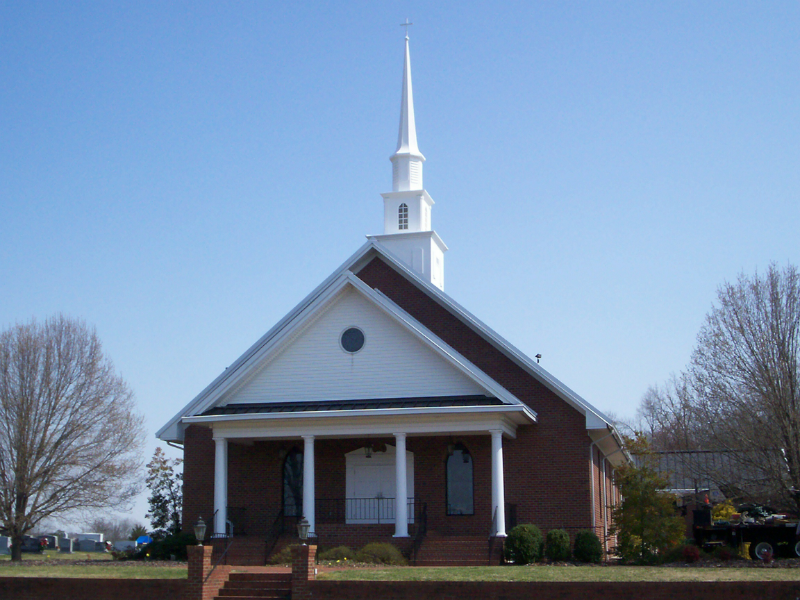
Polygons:
M372 398L358 400L314 400L310 402L261 402L215 406L203 413L211 415L245 415L339 410L371 410L385 408L439 408L464 406L504 406L490 396L433 396L427 398Z

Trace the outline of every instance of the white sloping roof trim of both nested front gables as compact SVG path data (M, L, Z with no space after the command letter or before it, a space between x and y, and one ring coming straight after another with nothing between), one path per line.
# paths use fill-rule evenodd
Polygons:
M443 306L448 312L453 314L467 327L475 331L479 336L506 355L535 380L551 390L557 397L584 414L586 416L587 429L609 429L613 431L611 420L608 417L569 389L557 378L541 368L537 363L525 356L490 327L452 300L442 290L419 277L401 260L389 252L377 239L370 236L368 237L368 241L361 246L361 248L342 263L338 269L318 285L285 317L278 321L255 344L244 352L244 354L236 359L233 364L225 369L225 371L214 379L214 381L201 391L191 402L159 429L156 433L156 437L167 440L181 439L182 428L180 424L183 417L199 415L208 411L226 391L231 389L236 383L241 382L254 365L260 363L261 359L270 351L276 350L282 342L285 342L289 338L292 331L307 322L326 301L345 285L352 286L354 289L357 289L366 297L370 298L377 306L401 323L408 331L412 332L434 351L438 352L441 356L450 361L451 364L476 381L488 394L496 396L506 404L522 405L523 403L520 402L518 398L513 396L513 394L503 388L472 362L467 360L456 349L452 348L431 332L383 292L378 289L370 288L361 279L356 277L354 273L357 273L375 257L379 257L390 265L392 269L402 277L420 289L434 302ZM535 420L535 413L533 413L533 411L529 411L529 413Z

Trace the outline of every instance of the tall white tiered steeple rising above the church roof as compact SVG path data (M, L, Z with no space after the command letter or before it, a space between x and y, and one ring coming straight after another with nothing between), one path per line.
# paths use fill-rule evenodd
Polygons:
M410 25L410 23L404 24ZM406 35L403 93L400 99L400 130L392 155L392 191L383 197L383 235L367 236L383 244L424 279L444 289L442 238L431 226L433 199L422 187L425 157L417 147L414 96L411 91L411 57Z

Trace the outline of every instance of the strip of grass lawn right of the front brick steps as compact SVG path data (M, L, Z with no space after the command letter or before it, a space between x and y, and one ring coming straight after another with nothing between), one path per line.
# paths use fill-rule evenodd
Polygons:
M691 567L392 567L321 573L320 579L359 581L800 581L800 569Z

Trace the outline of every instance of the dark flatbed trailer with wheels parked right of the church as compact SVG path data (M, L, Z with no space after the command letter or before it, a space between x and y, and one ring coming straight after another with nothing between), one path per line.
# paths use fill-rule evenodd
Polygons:
M701 548L713 546L740 547L749 543L753 560L767 557L800 557L800 523L796 519L768 518L763 523L711 522L711 511L694 511L694 540Z

